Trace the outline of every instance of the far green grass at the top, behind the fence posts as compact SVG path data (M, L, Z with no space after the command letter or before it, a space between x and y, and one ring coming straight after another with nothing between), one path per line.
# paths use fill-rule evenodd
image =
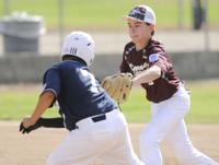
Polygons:
M183 0L185 27L192 27L192 0ZM10 0L10 11L27 11L45 17L48 28L58 27L58 0ZM117 28L123 30L123 17L136 4L151 5L158 19L158 27L177 26L177 0L64 0L65 25L70 28ZM0 1L3 9L3 1ZM218 0L209 0L209 22L219 26ZM3 15L3 10L0 16Z

